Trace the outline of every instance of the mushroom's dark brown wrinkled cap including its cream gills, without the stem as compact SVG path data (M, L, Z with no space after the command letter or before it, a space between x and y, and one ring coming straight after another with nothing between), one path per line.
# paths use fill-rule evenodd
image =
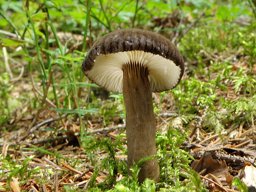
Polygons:
M173 89L184 73L184 60L170 40L152 31L120 29L97 40L82 63L82 71L94 83L122 93L123 65L148 69L153 92Z

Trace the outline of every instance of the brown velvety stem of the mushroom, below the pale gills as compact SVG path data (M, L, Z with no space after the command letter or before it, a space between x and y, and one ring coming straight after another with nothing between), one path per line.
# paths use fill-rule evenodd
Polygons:
M133 161L156 154L156 118L153 111L152 90L148 70L140 64L123 65L123 99L126 108L126 136L128 174ZM145 178L159 182L157 158L142 164L139 183Z

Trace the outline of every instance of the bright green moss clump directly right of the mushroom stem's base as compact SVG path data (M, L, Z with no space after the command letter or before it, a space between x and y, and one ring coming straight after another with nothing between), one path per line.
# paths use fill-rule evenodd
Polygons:
M169 129L165 136L156 136L156 145L159 146L159 187L163 187L160 188L163 191L203 190L199 175L189 166L193 157L179 147L186 138L187 133L173 129Z

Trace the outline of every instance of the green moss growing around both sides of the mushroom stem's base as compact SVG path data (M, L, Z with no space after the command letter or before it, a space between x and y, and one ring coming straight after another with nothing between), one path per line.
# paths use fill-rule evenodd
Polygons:
M141 185L138 183L140 165L144 161L154 158L154 156L141 159L137 164L133 164L130 168L132 176L128 176L127 165L124 162L119 162L115 158L114 149L119 148L124 150L120 135L118 135L116 142L111 141L109 138L88 138L85 145L85 151L87 153L101 149L105 150L109 155L100 164L100 168L109 171L109 175L107 175L104 183L95 185L95 178L99 172L99 168L96 166L90 182L90 191L101 192L104 189L110 189L113 184L115 184L114 189L111 191L115 192L153 192L156 189L166 192L204 191L205 189L203 188L199 175L190 168L190 162L193 159L192 156L179 147L186 138L187 132L184 134L178 130L170 129L165 136L157 133L156 146L158 147L157 156L160 169L160 183L156 184L154 180L145 179ZM126 175L118 183L116 183L117 173Z

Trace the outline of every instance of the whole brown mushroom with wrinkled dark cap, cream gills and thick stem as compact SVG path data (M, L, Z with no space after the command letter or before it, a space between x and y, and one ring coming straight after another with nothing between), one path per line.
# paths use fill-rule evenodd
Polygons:
M156 117L152 92L171 90L184 73L183 57L164 36L142 29L120 29L97 40L82 71L108 91L123 93L126 108L128 174L133 161L156 155ZM157 158L142 164L139 183L159 181Z

